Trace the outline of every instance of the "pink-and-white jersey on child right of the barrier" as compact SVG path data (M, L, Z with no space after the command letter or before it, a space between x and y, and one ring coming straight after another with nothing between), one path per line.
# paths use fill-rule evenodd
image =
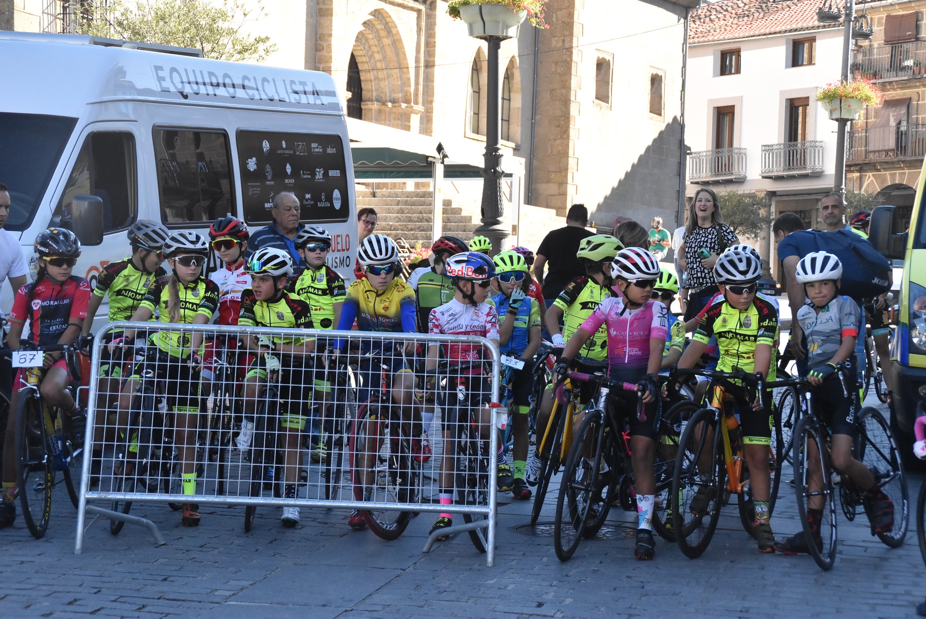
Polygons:
M644 368L649 361L650 339L665 340L668 335L668 315L661 301L646 301L642 308L629 309L623 298L608 297L579 328L594 334L607 324L607 361L612 371Z

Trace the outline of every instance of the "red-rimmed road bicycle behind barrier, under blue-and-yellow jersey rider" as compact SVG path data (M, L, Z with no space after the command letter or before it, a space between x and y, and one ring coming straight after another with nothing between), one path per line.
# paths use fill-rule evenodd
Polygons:
M373 359L380 374L379 393L357 407L357 418L350 433L351 479L354 498L372 503L417 505L421 494L421 463L412 451L411 420L398 419L394 409L392 381L396 368L407 364L404 357ZM370 372L373 373L373 372ZM411 510L368 509L358 511L378 537L392 540L401 536L412 516Z

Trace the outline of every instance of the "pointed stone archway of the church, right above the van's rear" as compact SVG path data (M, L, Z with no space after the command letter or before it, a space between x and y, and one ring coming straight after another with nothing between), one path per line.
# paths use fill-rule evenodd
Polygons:
M405 44L389 12L377 8L363 22L351 50L363 84L363 120L410 131L413 116L412 76Z

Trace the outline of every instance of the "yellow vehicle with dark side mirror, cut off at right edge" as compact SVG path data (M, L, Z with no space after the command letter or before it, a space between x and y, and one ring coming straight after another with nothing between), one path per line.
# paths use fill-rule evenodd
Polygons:
M905 463L916 461L912 454L915 440L913 424L918 414L918 405L926 399L924 179L926 168L920 174L917 196L907 230L901 231L902 222L895 207L878 207L871 211L869 228L869 240L882 255L892 260L903 260L899 305L895 306L892 318L897 328L891 342L891 364L887 372L890 373L891 385L894 385L895 389L891 398L891 429Z

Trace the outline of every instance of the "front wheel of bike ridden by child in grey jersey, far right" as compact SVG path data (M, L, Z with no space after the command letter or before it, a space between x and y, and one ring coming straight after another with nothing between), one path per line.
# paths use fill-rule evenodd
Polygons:
M797 517L804 527L804 536L810 556L817 562L821 570L829 570L836 561L836 503L832 488L832 469L827 461L826 438L821 435L820 424L816 417L803 417L795 427L795 497L797 499ZM822 466L822 472L816 475L811 470L811 464L816 469ZM811 482L820 489L811 490ZM807 521L807 510L811 504L822 506L823 515L820 519L820 543L814 542Z

